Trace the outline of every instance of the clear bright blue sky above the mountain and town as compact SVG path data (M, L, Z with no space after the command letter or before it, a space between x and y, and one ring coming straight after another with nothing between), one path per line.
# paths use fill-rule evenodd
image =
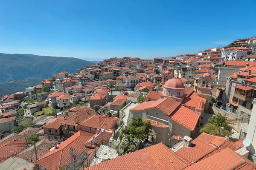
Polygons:
M0 53L90 61L197 53L256 36L255 5L255 0L6 0L0 3Z

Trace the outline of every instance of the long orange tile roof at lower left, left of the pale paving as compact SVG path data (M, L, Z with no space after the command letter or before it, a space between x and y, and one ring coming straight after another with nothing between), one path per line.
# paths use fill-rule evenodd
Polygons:
M86 147L83 146L94 134L79 131L73 136L58 145L57 149L53 149L40 159L35 161L41 167L46 166L47 170L58 170L63 165L68 165L72 158L70 157L70 148L76 151L76 155L80 155Z

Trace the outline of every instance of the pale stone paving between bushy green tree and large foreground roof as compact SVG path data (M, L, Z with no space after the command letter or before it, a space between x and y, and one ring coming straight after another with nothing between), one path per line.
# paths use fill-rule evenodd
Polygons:
M100 145L98 152L96 153L96 158L93 158L93 161L91 162L90 166L99 164L103 161L107 161L109 159L114 159L118 155L116 153L116 150L114 150L111 147L108 147L105 144Z

